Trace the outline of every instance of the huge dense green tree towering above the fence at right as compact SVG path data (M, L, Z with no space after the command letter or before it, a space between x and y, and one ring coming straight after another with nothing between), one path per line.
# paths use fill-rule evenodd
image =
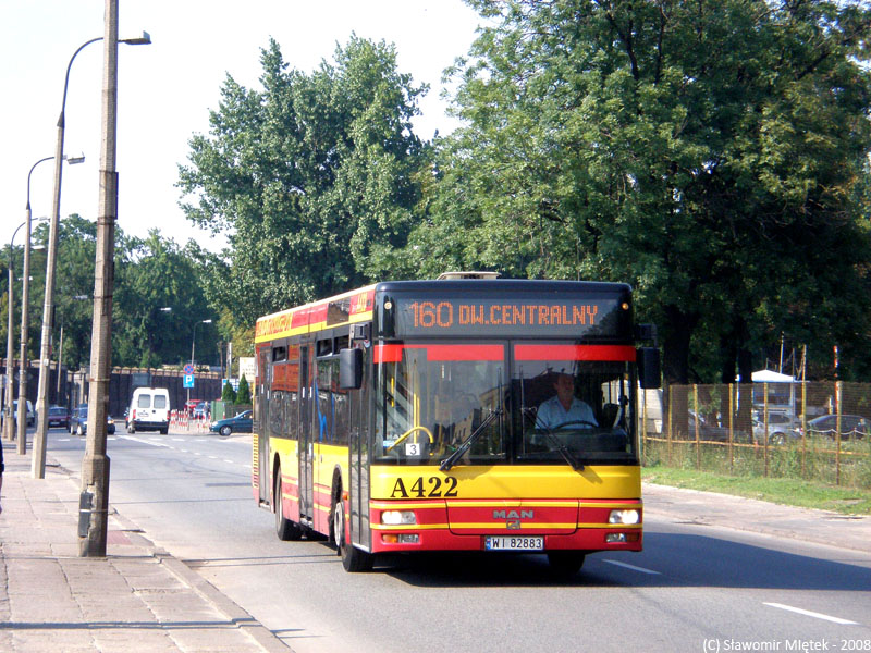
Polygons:
M490 26L454 71L467 126L438 144L410 237L422 273L629 281L672 382L690 359L747 378L783 331L856 342L863 5L469 4Z

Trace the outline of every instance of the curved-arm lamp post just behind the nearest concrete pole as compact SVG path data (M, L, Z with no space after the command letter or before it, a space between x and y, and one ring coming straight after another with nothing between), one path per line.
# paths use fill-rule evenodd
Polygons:
M115 8L116 9L116 8ZM116 13L115 13L116 17ZM108 21L108 16L107 16ZM115 28L118 22L115 21ZM39 387L36 395L36 406L39 411L39 419L36 423L36 436L34 438L34 458L32 466L32 476L35 479L41 479L46 476L46 438L48 433L48 371L49 371L49 348L51 340L51 321L54 308L54 267L58 257L58 225L61 219L61 161L63 161L63 136L65 127L64 112L66 110L66 90L70 86L70 70L73 67L76 54L78 54L85 47L90 44L103 40L102 36L93 38L85 41L78 49L73 52L70 58L70 63L66 65L66 77L63 82L63 101L61 102L61 114L58 119L58 144L54 150L54 197L51 209L51 222L49 225L48 236L48 262L46 263L46 296L42 304L42 337L39 350ZM143 32L140 38L126 39L123 41L118 40L118 32L115 29L115 40L112 47L116 50L119 42L125 42L133 46L147 45L151 42L148 33ZM115 61L116 63L116 61ZM114 118L114 110L112 111ZM114 143L112 144L114 147ZM101 180L102 183L102 180ZM114 188L114 186L113 186ZM96 318L96 316L95 316ZM105 426L103 426L105 428Z

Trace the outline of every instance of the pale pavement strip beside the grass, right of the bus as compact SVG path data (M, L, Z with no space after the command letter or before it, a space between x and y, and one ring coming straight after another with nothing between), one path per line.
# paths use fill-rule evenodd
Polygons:
M720 526L871 553L871 517L643 483L645 515L675 523Z

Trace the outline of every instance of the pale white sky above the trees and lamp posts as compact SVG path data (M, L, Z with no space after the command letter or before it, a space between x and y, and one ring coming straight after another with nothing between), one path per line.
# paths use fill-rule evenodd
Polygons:
M157 227L180 245L194 238L220 249L184 218L175 187L188 140L209 131L226 75L259 88L260 50L274 38L285 62L306 74L332 61L351 34L394 44L397 67L430 85L415 132L429 139L456 127L445 115L442 73L469 50L478 15L462 0L120 0L119 38L148 32L150 46L119 45L118 225L145 236ZM53 157L66 65L85 41L103 35L101 0L0 0L0 243L26 218L27 174ZM99 198L102 44L84 48L70 73L61 219L96 220ZM34 218L51 213L54 162L37 165ZM15 245L24 241L22 229Z

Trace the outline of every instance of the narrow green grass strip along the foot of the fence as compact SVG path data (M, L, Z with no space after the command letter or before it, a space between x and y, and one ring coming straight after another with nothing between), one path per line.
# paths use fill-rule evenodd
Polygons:
M728 476L655 465L642 468L641 480L844 515L871 515L871 490L836 488L800 479Z

